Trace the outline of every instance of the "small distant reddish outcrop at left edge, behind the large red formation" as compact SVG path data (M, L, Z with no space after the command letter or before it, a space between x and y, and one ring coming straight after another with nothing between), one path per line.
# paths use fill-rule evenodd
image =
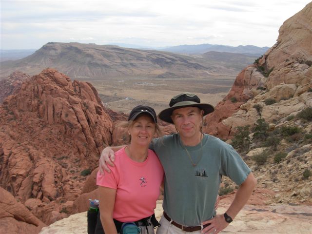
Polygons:
M9 95L17 92L20 88L20 85L23 81L30 78L25 73L16 71L12 73L8 78L0 80L0 103L8 97Z

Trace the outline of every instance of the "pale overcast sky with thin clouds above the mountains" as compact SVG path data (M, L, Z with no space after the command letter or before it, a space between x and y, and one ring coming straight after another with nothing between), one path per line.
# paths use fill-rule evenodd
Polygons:
M1 0L1 49L47 42L273 46L310 0Z

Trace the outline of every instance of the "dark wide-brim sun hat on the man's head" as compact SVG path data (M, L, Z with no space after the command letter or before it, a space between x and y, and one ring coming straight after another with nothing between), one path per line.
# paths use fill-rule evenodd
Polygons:
M204 111L204 116L212 113L215 108L214 106L207 103L200 103L200 99L197 95L184 92L173 97L169 103L170 108L162 110L158 117L168 123L173 123L171 116L172 112L176 109L184 108L184 107L198 107L199 109Z

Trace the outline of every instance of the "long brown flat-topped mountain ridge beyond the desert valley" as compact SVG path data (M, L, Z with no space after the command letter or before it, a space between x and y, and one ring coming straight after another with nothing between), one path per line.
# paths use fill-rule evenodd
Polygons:
M230 64L229 61L222 61L229 58L234 62ZM80 80L126 77L205 78L207 74L233 76L256 58L218 52L187 56L114 45L49 42L26 58L1 62L0 76L7 77L17 70L35 75L51 67Z

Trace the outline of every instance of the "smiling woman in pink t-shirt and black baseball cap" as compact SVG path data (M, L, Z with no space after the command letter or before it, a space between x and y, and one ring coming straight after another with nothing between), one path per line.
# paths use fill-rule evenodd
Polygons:
M164 175L158 157L149 150L155 134L160 134L155 110L135 107L123 127L130 144L116 152L111 173L97 175L101 223L106 234L120 233L122 225L131 228L124 224L128 222L135 222L132 228L140 234L154 234L154 209Z

